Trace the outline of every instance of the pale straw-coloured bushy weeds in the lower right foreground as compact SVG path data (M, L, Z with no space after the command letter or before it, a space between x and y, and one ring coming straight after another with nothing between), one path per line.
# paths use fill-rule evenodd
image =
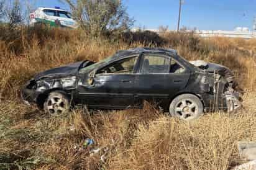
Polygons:
M110 158L113 169L228 169L239 163L237 141L255 140L253 114L214 114L195 122L160 119L140 126L127 150Z

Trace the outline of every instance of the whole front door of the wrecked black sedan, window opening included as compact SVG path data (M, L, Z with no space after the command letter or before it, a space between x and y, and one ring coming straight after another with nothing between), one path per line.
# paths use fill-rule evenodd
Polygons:
M134 106L135 67L138 56L131 56L99 68L93 85L78 85L83 104L97 108L123 109Z

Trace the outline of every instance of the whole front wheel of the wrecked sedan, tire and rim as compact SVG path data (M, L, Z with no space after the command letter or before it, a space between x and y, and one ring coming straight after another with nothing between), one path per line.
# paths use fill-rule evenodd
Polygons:
M43 104L45 113L52 115L66 114L70 110L70 99L65 92L50 92Z

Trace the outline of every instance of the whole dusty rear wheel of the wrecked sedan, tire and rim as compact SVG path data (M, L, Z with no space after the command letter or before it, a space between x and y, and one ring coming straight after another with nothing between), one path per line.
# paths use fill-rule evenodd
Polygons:
M181 94L171 101L169 112L178 119L190 121L204 114L204 106L197 96Z

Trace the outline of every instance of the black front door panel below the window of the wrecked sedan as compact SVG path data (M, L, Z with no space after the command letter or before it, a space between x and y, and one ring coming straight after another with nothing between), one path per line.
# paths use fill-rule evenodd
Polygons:
M76 101L89 107L132 107L134 78L134 74L99 74L94 78L93 86L86 82L88 79L83 79L78 83Z

